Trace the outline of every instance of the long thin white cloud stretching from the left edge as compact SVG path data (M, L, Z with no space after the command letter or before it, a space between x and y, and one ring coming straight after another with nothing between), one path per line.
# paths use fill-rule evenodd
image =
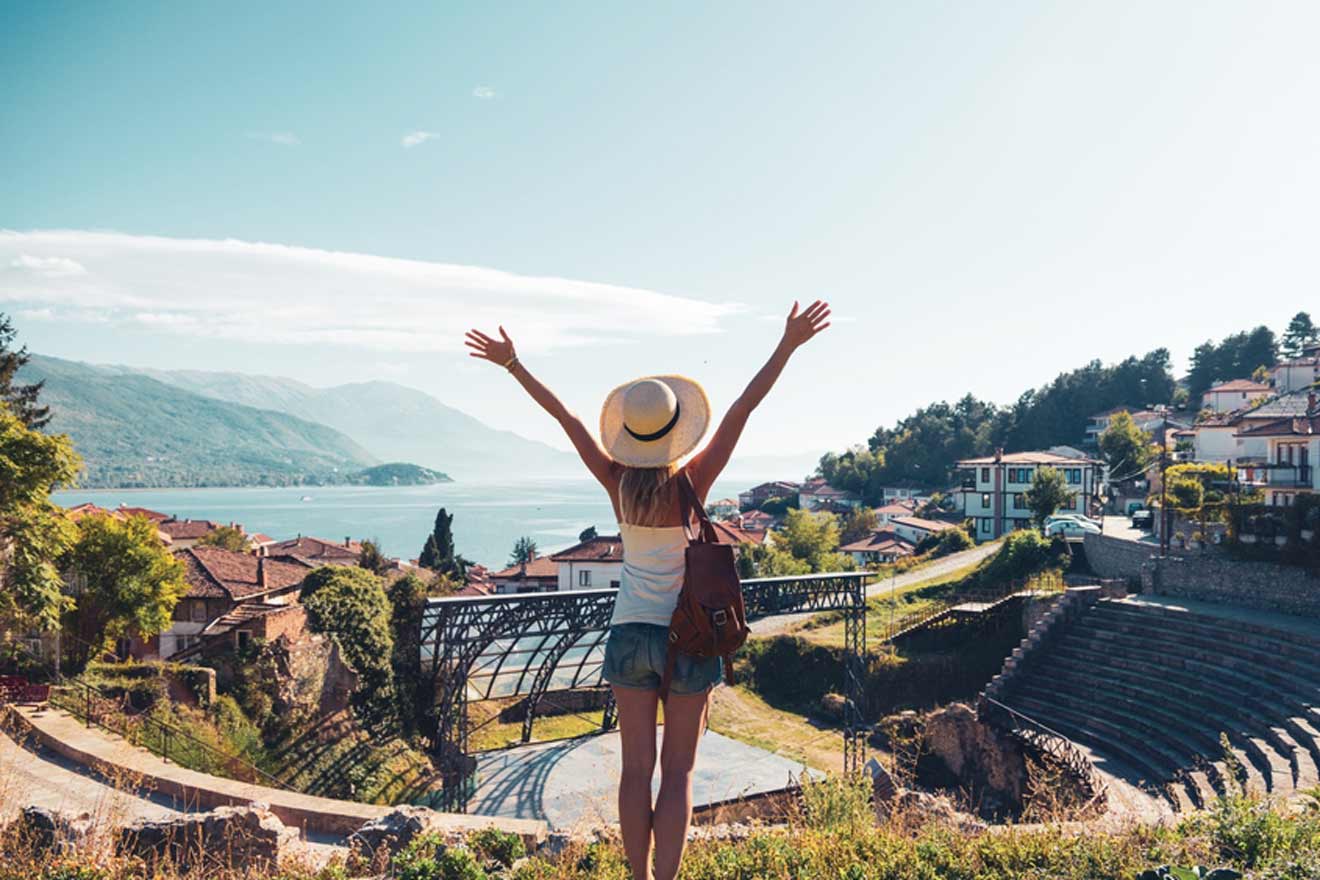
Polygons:
M81 274L33 267L69 260ZM524 351L721 331L744 311L573 278L236 240L0 230L0 305L51 319L271 344L465 351L503 323Z

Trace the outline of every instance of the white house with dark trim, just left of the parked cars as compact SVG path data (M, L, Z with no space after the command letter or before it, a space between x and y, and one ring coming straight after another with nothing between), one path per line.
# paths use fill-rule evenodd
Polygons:
M1031 526L1031 509L1026 493L1041 467L1064 475L1076 495L1060 513L1090 515L1101 493L1101 462L1069 458L1057 453L1002 453L968 458L958 462L966 476L962 491L962 515L975 520L977 540L998 538L1014 529Z

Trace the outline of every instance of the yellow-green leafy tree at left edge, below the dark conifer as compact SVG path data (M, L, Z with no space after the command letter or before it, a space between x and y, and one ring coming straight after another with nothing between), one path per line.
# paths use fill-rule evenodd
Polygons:
M28 427L0 401L0 617L53 631L71 606L55 563L74 529L50 492L81 467L66 435Z

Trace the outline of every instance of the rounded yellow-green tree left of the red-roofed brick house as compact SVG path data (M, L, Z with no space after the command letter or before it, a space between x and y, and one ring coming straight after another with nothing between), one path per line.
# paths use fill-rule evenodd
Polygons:
M75 602L65 616L77 637L67 656L82 669L120 636L149 639L168 629L187 581L183 563L147 517L91 515L77 529L61 567Z

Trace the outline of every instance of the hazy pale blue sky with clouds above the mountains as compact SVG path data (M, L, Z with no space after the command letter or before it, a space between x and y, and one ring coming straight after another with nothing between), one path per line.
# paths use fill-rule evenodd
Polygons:
M552 439L717 409L747 451L1320 311L1316 3L9 3L0 310L33 350L389 379Z

